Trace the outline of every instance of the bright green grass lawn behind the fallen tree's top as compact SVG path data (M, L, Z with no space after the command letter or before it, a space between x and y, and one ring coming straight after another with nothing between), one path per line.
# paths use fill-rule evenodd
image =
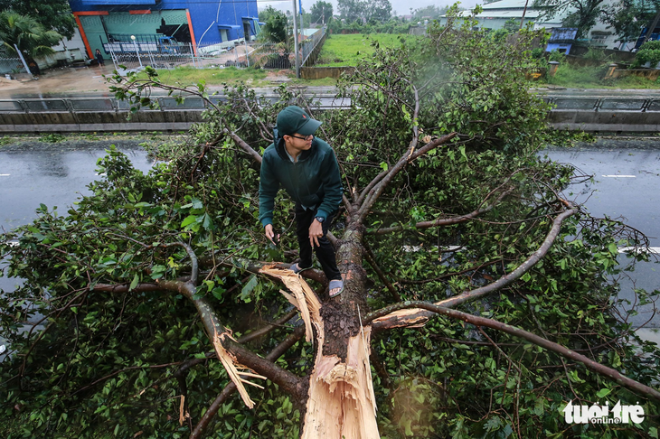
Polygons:
M325 40L316 66L355 66L357 61L373 53L372 42L378 42L382 47L393 47L400 45L401 40L409 41L416 38L420 37L397 33L333 34Z

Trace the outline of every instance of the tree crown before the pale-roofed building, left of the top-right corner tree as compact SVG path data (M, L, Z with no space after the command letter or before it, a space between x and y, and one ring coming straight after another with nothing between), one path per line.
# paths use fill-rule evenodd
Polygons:
M543 17L552 18L567 14L562 25L577 27L576 38L586 38L591 28L603 14L605 0L534 0L534 7L543 8Z

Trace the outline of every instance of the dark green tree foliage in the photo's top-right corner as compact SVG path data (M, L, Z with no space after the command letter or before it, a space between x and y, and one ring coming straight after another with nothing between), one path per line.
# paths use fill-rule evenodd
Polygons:
M618 0L603 6L603 21L612 27L618 42L636 42L642 29L652 23L658 10L658 0Z

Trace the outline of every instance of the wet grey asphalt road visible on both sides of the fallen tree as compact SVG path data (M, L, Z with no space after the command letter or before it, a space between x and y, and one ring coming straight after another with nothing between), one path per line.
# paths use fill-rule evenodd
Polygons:
M0 227L12 229L35 218L40 203L49 209L58 206L63 214L85 193L86 185L98 178L97 159L111 143L125 152L138 169L148 170L152 162L138 145L144 140L114 142L77 142L44 144L33 142L19 146L0 146ZM566 191L567 196L584 202L594 216L623 216L627 223L643 231L651 246L660 249L660 138L655 140L600 139L597 144L577 148L550 148L552 159L572 163L584 173L594 175L595 182L583 182ZM622 262L625 257L621 256ZM660 265L646 263L633 273L636 287L660 288ZM12 287L15 281L0 278L0 288ZM622 296L634 299L630 285L622 288ZM637 326L651 314L641 313L633 319ZM651 324L660 328L660 317Z

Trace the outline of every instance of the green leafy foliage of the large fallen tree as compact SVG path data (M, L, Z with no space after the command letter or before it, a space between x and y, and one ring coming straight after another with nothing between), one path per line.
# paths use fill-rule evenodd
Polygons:
M351 260L367 282L343 294L368 304L362 315L393 302L436 302L493 285L540 251L568 203L559 192L572 170L538 156L548 140L549 107L526 91L525 72L538 67L529 57L535 33L496 44L474 23L436 23L429 38L375 47L341 83L342 96L352 99L348 109L317 112L285 87L277 101L244 86L227 88L184 145L163 157L167 163L143 174L111 149L99 161L104 177L75 207L62 215L42 205L37 220L2 236L3 273L24 283L0 294L0 335L10 347L0 363L0 436L188 436L229 383L206 333L210 313L231 327L237 344L255 352L265 354L295 335L299 322L284 319L259 339L242 339L290 310L280 285L254 275L247 261L295 257L293 203L278 199L274 222L282 242L269 248L257 221L259 165L245 145L267 147L278 111L291 102L324 122L318 135L335 147L349 203L370 192L377 176L393 175L362 224L352 222L357 213L351 209L333 229L340 249L342 241L363 235L362 251L371 255L370 264ZM494 59L504 62L494 65ZM180 89L159 84L155 70L146 73L146 79L113 77L115 96L136 110L152 106L158 87L184 99ZM211 98L203 83L191 92ZM388 173L401 156L455 132L453 142ZM420 226L486 207L476 220ZM619 314L617 306L618 245L643 248L647 241L618 221L580 211L556 231L547 253L523 276L461 311L523 328L653 385L657 347L630 331L627 319L635 310ZM645 255L629 254L633 260ZM200 278L188 294L193 261ZM169 283L179 288L164 289ZM636 291L641 304L657 294ZM39 320L45 327L25 331L26 322ZM297 341L260 370L278 367L306 377L315 351ZM552 350L448 317L424 328L384 328L372 351L382 437L636 437L658 426L658 403L617 381ZM264 389L250 390L254 409L238 398L221 400L207 434L296 437L305 401L269 378ZM639 401L646 420L564 423L568 401L606 399L610 406Z

